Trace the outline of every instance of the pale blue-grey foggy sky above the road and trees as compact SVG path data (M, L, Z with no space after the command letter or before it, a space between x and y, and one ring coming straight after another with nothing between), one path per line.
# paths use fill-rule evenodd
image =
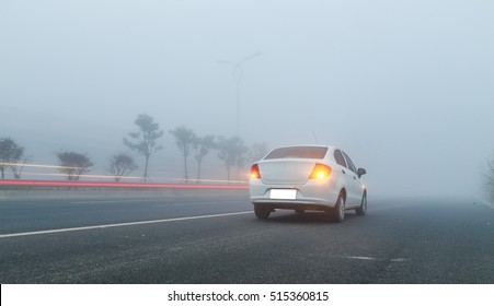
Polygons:
M0 137L105 174L148 114L159 178L183 176L168 131L186 126L340 146L369 195L470 195L494 154L493 15L489 0L1 0ZM226 178L217 160L205 176Z

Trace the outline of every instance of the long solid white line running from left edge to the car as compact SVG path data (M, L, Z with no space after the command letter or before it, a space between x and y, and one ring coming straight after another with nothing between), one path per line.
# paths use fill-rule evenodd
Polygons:
M137 221L137 222L103 224L103 225L82 226L82 227L69 227L69 228L47 229L47 231L36 231L36 232L25 232L25 233L13 233L13 234L0 235L0 238L43 235L43 234L55 234L55 233L66 233L66 232L76 232L76 231L88 231L88 229L96 229L96 228L133 226L133 225L143 225L143 224L165 223L165 222L198 220L198 219L209 219L209 217L220 217L220 216L230 216L230 215L246 214L246 213L252 213L252 211L219 213L219 214L208 214L208 215L196 215L196 216L183 216L183 217L162 219L162 220Z

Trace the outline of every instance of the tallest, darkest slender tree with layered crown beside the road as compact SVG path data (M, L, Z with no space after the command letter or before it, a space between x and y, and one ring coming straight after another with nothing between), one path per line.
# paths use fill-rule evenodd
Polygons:
M129 132L128 136L134 141L124 138L124 144L145 157L146 164L142 178L146 181L149 178L149 157L152 153L163 149L162 145L157 144L157 140L163 136L163 131L160 130L160 126L153 121L152 117L146 114L137 116L135 123L139 128L139 131Z

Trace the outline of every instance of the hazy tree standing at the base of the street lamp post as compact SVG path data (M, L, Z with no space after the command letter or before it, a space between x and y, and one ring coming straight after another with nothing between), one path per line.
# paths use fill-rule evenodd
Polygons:
M243 140L240 137L232 137L225 139L220 137L218 141L218 157L223 161L225 167L228 173L228 181L230 183L230 173L233 166L238 169L243 166L245 162L245 154L249 152L249 148L245 146Z

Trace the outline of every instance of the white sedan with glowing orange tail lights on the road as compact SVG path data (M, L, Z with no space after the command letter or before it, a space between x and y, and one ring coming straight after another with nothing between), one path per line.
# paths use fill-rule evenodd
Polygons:
M298 145L278 148L251 167L250 197L259 219L276 209L324 211L335 222L345 210L357 215L367 211L367 190L345 152L334 146Z

